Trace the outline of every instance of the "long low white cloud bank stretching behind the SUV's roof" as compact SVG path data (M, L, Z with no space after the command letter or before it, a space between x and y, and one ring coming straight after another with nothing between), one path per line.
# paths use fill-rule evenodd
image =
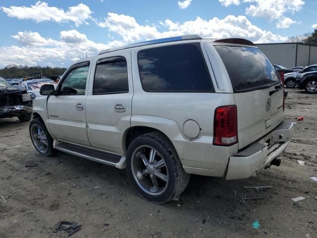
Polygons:
M108 43L95 43L76 30L61 31L59 39L46 38L38 32L18 32L11 37L20 46L0 47L0 66L9 63L67 66L74 60L85 58L86 53L94 56L101 50L127 43L185 34L198 34L203 38L246 38L255 43L286 40L286 37L253 25L246 16L196 17L185 22L166 19L157 26L139 24L132 16L109 12L102 22L96 21L96 24L111 33Z

